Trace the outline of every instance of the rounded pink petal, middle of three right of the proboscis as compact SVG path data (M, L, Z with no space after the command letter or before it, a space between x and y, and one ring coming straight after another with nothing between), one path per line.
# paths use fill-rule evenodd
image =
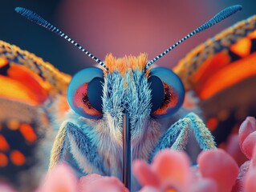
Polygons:
M152 162L152 170L161 181L162 186L180 189L190 180L189 158L180 151L162 150Z

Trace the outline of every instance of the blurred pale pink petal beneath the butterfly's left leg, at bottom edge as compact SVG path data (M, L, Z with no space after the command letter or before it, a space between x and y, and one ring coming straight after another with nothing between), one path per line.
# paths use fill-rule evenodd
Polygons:
M77 179L70 166L61 163L48 174L38 192L76 192Z

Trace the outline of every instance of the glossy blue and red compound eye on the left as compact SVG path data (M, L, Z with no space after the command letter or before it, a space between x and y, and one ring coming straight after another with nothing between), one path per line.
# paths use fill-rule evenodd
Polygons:
M85 118L101 118L103 82L103 70L97 67L88 67L75 74L67 87L71 109Z

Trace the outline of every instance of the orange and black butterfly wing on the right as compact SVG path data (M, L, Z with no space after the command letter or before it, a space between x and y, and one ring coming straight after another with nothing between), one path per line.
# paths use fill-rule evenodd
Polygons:
M256 116L256 16L238 22L197 46L174 71L200 98L217 144Z

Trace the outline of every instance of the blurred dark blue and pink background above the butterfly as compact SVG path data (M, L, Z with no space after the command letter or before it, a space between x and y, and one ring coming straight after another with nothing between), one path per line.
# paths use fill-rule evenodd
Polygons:
M0 39L42 57L67 74L94 65L91 58L57 35L14 12L16 6L34 10L79 42L96 57L108 53L148 53L154 58L177 40L234 4L243 10L209 30L190 38L157 64L172 68L189 50L226 27L256 14L253 0L1 0Z

